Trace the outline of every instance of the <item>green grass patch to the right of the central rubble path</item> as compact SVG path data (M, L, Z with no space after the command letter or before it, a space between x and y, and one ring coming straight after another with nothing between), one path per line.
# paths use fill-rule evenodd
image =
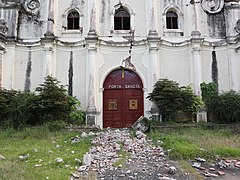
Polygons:
M240 135L227 129L206 127L175 130L153 130L149 133L154 141L162 140L172 159L240 158Z

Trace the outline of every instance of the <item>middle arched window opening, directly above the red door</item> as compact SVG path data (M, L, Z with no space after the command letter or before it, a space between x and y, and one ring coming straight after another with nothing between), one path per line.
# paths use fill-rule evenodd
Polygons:
M130 30L130 15L122 7L115 13L114 30Z

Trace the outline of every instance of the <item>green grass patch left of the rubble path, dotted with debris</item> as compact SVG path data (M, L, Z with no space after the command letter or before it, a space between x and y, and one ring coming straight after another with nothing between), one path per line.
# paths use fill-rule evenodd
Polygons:
M80 132L50 132L44 127L0 131L0 155L6 158L0 160L0 179L69 179L75 166L80 165L75 158L82 159L90 147L90 138L71 144L71 137L76 135ZM29 157L19 158L26 154ZM56 162L56 158L63 162Z

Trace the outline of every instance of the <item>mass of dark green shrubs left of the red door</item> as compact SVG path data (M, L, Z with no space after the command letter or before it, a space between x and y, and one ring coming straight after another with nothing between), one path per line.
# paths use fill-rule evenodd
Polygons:
M54 122L50 128L58 128L59 123L84 124L85 114L79 110L80 102L69 95L63 85L51 76L36 88L35 93L15 90L0 90L0 127L24 129L27 125L43 125Z

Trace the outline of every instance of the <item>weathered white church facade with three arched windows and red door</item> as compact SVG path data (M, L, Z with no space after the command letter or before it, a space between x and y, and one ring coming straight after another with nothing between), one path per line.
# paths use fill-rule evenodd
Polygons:
M87 123L151 116L155 82L240 90L239 0L0 0L0 87L67 85Z

